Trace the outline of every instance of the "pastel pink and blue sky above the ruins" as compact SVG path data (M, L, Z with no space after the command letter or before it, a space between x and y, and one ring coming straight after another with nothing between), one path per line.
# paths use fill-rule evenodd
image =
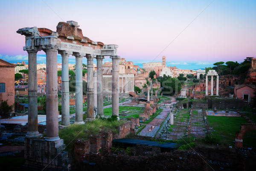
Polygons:
M255 9L256 0L3 0L0 59L27 61L19 28L56 31L58 22L74 20L84 36L119 45L118 55L141 67L162 56L181 69L242 62L256 56ZM44 61L41 51L38 63Z

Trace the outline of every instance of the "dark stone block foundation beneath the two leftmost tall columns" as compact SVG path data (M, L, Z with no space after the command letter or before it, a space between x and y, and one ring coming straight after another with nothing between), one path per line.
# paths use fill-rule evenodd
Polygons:
M26 170L68 171L71 160L68 158L63 140L49 142L43 139L25 138L24 157Z

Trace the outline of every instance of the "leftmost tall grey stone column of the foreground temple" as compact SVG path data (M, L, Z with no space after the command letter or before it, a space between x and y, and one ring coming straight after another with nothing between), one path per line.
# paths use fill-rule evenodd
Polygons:
M26 137L38 137L38 99L37 99L37 67L36 54L38 50L27 50L29 56L29 92L28 92L28 132Z

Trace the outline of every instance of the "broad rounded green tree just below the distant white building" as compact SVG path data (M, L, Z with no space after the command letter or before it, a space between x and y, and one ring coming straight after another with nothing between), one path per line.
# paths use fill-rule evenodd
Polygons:
M181 83L177 78L169 78L166 81L163 81L163 91L164 95L174 95L180 92Z

